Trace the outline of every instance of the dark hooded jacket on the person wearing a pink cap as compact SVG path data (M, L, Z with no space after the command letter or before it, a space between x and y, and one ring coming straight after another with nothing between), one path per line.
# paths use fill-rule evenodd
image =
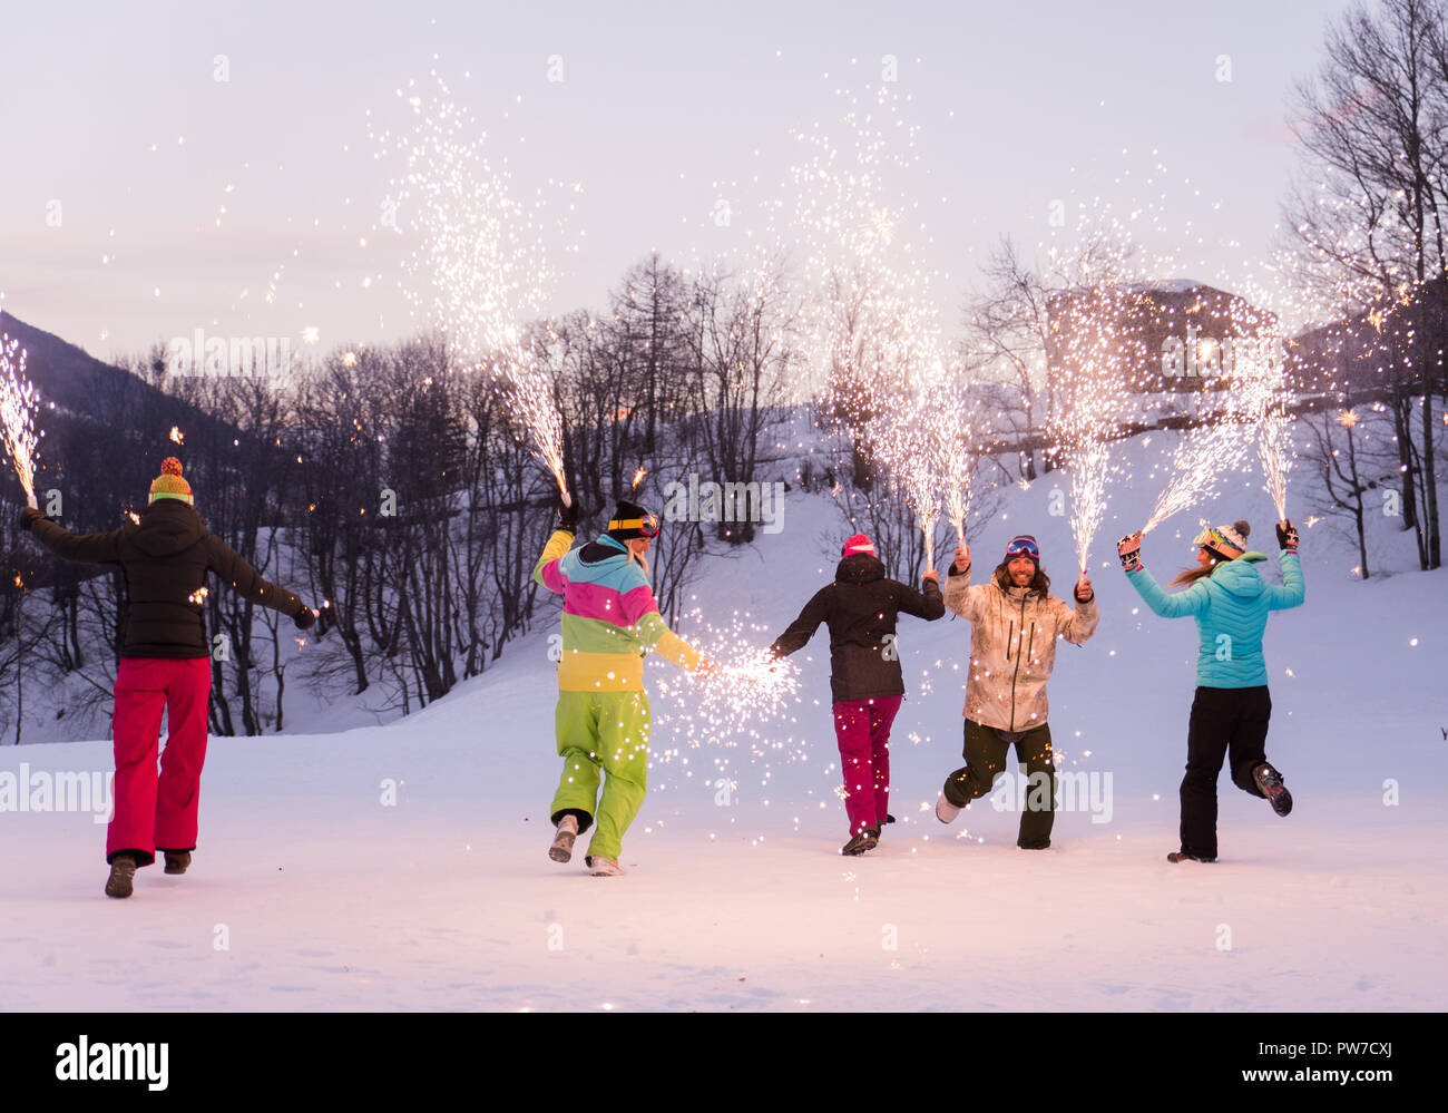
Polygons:
M934 622L946 613L940 585L924 593L885 578L885 565L867 552L840 561L834 583L815 593L770 646L779 656L804 648L820 623L830 625L830 694L835 703L904 696L895 617L899 612Z

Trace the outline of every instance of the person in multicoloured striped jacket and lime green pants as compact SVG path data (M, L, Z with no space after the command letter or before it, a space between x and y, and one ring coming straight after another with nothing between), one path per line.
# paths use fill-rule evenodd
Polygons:
M594 877L615 877L626 872L618 864L623 838L647 791L644 654L653 649L699 677L715 668L659 614L647 564L657 514L620 501L607 532L578 549L576 523L578 504L562 506L559 528L533 568L539 584L563 596L556 713L563 775L553 794L549 856L568 862L573 841L597 823L584 861Z

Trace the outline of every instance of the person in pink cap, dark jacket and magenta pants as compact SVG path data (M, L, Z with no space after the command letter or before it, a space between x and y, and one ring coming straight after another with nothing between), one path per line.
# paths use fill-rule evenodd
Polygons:
M934 622L946 613L935 572L925 572L924 593L885 577L873 542L856 533L844 543L834 583L815 593L770 646L776 656L802 649L824 622L830 626L830 690L834 732L844 772L844 810L850 841L841 854L875 849L893 822L891 796L891 725L905 696L895 619L899 612Z

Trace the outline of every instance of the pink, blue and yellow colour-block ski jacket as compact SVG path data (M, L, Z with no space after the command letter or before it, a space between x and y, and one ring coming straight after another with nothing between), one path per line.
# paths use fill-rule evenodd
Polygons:
M698 651L665 625L649 578L621 542L601 533L572 545L571 530L556 530L533 567L537 583L563 596L559 691L643 691L649 649L698 668Z

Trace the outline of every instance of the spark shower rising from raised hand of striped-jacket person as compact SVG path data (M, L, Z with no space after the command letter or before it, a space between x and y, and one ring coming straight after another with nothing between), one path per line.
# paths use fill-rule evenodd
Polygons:
M563 419L526 332L543 312L553 278L543 191L520 199L511 172L489 164L487 132L452 100L436 72L433 80L436 90L427 97L413 81L398 90L411 112L407 132L374 135L405 164L392 181L392 197L407 212L405 232L416 239L404 262L404 291L465 364L497 377L515 420L533 438L534 454L569 501Z

